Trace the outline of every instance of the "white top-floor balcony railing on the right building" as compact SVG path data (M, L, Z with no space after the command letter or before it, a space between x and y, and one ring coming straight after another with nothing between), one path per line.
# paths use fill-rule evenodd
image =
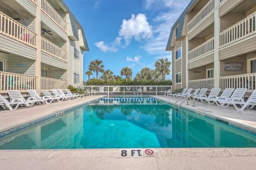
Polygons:
M214 0L209 1L203 8L200 10L191 21L188 22L188 33L192 31L196 25L202 22L207 16L209 16L214 11Z

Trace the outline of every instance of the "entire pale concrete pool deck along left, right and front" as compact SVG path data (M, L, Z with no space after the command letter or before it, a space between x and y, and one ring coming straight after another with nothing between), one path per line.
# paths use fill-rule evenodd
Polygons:
M0 131L27 123L53 112L81 105L101 96L0 112ZM173 103L175 99L154 96ZM191 105L191 103L190 103ZM256 112L235 111L202 103L186 106L225 120L256 128ZM154 149L155 157L121 158L118 149L0 150L1 169L255 169L256 148Z

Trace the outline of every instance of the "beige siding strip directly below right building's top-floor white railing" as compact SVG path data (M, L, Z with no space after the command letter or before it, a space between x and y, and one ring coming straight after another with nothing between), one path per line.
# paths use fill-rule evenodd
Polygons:
M199 33L201 33L203 30L206 28L210 27L210 25L214 22L214 13L211 15L207 16L206 19L204 19L202 22L197 24L197 26L188 33L188 40L193 39L196 37Z

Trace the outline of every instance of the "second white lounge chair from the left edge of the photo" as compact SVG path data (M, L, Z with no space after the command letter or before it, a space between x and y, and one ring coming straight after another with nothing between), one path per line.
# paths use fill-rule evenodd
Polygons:
M35 105L35 99L29 97L27 100L21 95L19 90L7 90L7 93L11 97L11 103L22 103L26 107L33 107Z

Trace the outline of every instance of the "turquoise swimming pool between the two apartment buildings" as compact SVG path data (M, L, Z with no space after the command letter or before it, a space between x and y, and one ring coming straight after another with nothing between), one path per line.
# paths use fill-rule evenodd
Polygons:
M255 134L149 96L104 99L5 135L0 149L256 147Z

